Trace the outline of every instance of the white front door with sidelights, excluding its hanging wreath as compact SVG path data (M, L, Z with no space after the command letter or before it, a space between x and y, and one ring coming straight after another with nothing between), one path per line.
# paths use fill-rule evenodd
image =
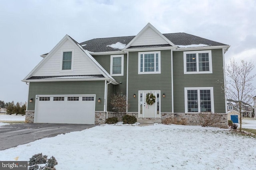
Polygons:
M140 105L140 113L139 113L139 117L142 118L156 118L156 117L160 117L159 115L159 103L160 103L160 98L159 98L159 94L160 91L140 91L140 101L139 101L139 105ZM146 102L146 96L147 94L153 94L155 96L155 102L150 105L147 104Z

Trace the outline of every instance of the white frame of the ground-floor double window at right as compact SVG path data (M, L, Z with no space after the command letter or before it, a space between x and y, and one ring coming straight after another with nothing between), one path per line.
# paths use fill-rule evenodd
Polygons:
M198 98L198 112L188 112L188 90L197 90ZM185 113L200 113L200 90L210 90L211 93L211 112L214 113L214 94L213 87L185 87L184 96L185 96Z

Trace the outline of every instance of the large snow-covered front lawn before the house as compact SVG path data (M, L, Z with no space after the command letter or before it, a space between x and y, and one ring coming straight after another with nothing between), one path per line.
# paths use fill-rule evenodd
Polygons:
M58 170L255 170L255 143L216 127L101 125L1 150L0 160L26 161L42 152L56 158Z

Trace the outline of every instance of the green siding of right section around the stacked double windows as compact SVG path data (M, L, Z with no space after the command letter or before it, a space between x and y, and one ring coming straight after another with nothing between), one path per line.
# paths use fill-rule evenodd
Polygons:
M185 112L185 87L213 87L214 111L216 113L225 113L225 96L221 88L221 86L224 86L223 82L224 72L222 49L212 50L211 74L184 74L183 51L173 52L173 89L175 113Z

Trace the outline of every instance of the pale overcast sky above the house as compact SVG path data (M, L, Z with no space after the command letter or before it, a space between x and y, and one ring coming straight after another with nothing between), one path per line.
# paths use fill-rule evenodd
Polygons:
M150 22L161 33L186 32L230 45L226 63L235 58L256 64L255 0L0 0L0 7L5 102L27 100L28 85L21 80L66 34L81 43L137 35Z

